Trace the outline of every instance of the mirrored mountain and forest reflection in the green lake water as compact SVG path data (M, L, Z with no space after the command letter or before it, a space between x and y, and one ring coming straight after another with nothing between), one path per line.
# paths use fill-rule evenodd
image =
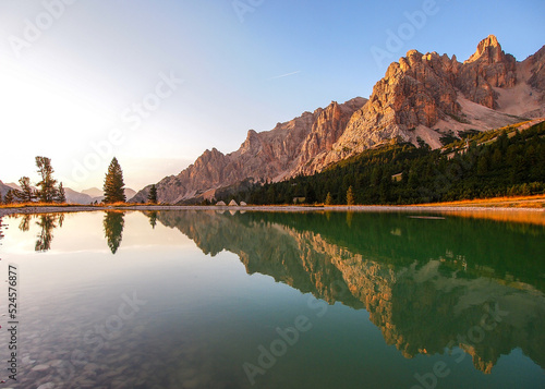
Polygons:
M545 367L543 227L341 212L170 211L158 220L206 254L235 253L249 273L365 308L407 357L458 345L488 373L520 348ZM491 323L494 309L507 316Z

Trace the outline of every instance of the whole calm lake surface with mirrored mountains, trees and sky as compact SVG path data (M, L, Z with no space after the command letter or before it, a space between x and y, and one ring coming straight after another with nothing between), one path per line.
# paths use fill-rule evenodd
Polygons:
M4 387L545 387L543 222L111 211L1 233Z

